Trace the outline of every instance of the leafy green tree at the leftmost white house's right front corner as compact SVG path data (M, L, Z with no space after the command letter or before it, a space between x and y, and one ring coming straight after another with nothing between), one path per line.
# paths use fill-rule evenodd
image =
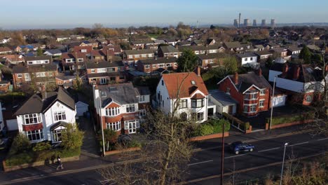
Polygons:
M67 124L65 131L62 131L62 143L64 149L79 149L83 144L84 132L79 130L76 123Z

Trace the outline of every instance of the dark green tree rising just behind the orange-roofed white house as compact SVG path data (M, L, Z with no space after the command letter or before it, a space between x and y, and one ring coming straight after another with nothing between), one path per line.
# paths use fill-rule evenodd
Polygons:
M187 49L182 51L182 55L177 59L178 71L193 71L198 63L198 57L193 50Z

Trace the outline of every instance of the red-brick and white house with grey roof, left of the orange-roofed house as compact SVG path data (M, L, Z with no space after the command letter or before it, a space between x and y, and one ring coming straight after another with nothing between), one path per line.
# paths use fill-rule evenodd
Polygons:
M118 134L139 132L146 116L150 93L148 88L135 88L132 83L93 85L97 122Z

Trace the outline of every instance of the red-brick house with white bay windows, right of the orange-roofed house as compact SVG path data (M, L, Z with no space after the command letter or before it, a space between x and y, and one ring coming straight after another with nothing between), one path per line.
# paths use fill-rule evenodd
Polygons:
M271 85L262 76L261 69L256 73L229 75L219 83L219 90L238 102L237 113L244 116L257 116L260 111L270 108Z

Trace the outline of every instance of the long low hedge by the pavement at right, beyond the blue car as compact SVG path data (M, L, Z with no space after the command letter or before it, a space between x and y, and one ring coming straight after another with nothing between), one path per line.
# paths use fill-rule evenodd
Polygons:
M309 112L306 114L292 114L288 116L277 116L272 118L271 125L280 125L283 123L292 123L296 121L305 121L308 119L313 119L313 112ZM266 123L270 123L270 118L266 118Z

